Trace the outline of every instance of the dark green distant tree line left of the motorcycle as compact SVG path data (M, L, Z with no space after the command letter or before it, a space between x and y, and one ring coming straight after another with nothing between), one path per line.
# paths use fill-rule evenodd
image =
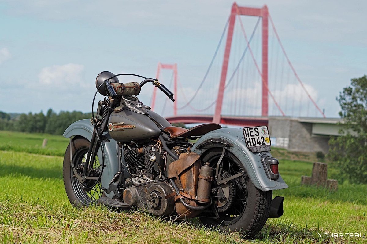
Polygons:
M41 111L12 117L14 116L0 111L0 130L62 135L70 124L77 120L90 119L92 115L78 111L55 113L48 109L46 114Z

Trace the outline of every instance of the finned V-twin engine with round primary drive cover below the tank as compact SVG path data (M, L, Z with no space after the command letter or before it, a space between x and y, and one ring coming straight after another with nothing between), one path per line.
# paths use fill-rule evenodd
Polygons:
M132 176L125 181L123 200L130 206L148 210L158 216L174 213L174 199L166 199L173 192L170 184L152 182L162 179L166 154L159 147L159 143L147 143L138 147L132 143L127 145L124 159Z

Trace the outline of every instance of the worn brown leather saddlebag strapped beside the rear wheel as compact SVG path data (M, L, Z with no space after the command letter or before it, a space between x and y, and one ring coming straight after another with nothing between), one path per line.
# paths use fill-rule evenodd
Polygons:
M199 158L199 154L189 151L180 154L179 159L168 166L168 178L174 179L180 190L180 195L175 196L175 208L177 214L181 215L180 218L193 218L201 213L201 210L188 209L179 200L179 198L183 198L191 206L201 206L195 201L201 166Z

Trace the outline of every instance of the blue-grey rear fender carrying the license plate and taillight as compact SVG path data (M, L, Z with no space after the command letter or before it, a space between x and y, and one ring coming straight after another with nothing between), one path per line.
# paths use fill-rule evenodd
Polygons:
M284 182L280 175L279 179L277 180L271 180L266 176L261 162L261 155L268 154L271 156L270 152L252 153L249 151L246 147L241 129L222 128L209 132L197 140L192 147L192 151L200 155L203 154L206 150L208 150L208 148L200 148L200 144L208 139L215 138L222 139L230 144L233 144L233 146L226 147L226 149L233 153L242 162L248 177L256 188L261 189L262 191L288 188L288 185Z

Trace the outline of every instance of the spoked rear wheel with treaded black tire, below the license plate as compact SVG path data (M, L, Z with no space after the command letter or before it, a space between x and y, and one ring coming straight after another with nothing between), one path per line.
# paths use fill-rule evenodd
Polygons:
M221 148L212 149L201 158L203 162L209 162L215 168L221 154ZM264 192L257 189L250 181L241 161L227 150L220 166L221 179L240 172L245 174L217 187L216 190L219 192L217 195L222 195L222 198L212 196L214 207L202 213L200 220L207 226L219 227L227 232L239 231L247 237L253 237L264 227L268 219L272 191Z

